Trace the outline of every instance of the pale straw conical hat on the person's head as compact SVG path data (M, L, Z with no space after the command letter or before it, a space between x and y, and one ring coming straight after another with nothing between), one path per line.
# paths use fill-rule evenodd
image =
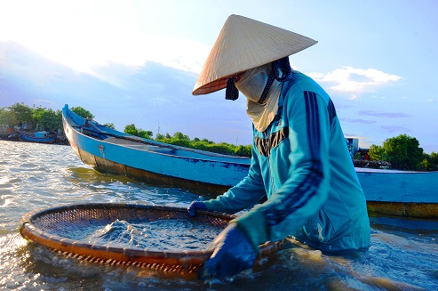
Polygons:
M283 59L316 43L307 36L283 28L230 15L203 65L193 94L224 89L229 77Z

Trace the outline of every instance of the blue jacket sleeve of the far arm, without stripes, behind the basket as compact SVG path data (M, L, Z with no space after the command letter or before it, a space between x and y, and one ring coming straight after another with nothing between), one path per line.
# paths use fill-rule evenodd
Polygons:
M235 214L243 209L250 208L266 196L266 190L260 174L259 159L254 154L252 145L251 166L248 175L235 187L227 190L218 198L205 201L205 206L210 211Z

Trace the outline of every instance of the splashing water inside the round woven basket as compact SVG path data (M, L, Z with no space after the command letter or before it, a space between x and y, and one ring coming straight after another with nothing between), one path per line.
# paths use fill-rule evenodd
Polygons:
M82 240L91 245L178 252L204 249L223 230L222 227L187 218L137 223L115 219L108 224L102 221L90 224L88 228L81 228L79 231L75 231L76 223L72 224L74 227L63 226L60 230L52 228L51 233L63 238Z

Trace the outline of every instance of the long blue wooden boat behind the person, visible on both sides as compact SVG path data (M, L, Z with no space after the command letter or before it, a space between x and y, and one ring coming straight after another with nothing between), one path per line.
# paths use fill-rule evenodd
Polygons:
M77 156L100 173L150 185L216 196L248 174L250 158L192 150L121 133L62 109L64 131ZM438 172L356 167L370 211L438 218Z

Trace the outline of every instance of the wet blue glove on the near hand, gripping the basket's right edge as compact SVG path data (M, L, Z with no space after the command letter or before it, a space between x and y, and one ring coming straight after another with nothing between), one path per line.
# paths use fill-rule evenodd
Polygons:
M250 269L257 257L250 239L240 230L237 223L231 223L222 230L207 249L214 249L214 252L199 269L199 279L233 276Z

